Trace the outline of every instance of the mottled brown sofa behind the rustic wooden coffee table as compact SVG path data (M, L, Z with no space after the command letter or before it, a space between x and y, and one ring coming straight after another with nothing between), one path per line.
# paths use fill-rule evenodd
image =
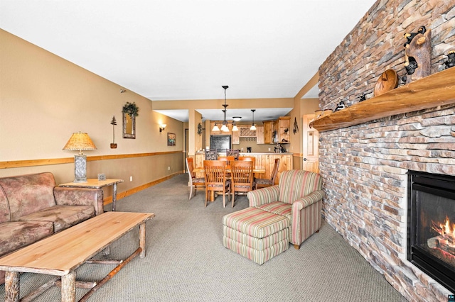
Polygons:
M0 257L101 213L102 189L60 188L50 172L0 178Z

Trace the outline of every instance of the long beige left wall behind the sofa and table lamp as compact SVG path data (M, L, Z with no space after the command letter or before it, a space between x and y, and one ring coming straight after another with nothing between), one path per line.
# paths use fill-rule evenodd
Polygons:
M77 131L87 132L97 150L86 151L87 176L103 172L125 179L119 191L182 171L183 123L152 111L149 99L0 30L0 163L73 157L62 148ZM123 94L120 89L126 89ZM122 107L139 107L136 139L122 138ZM112 116L117 119L112 142ZM159 132L159 124L166 130ZM176 146L167 146L167 133ZM165 153L163 153L165 152ZM166 153L176 152L176 153ZM124 158L124 155L148 156ZM90 157L117 157L90 161ZM73 163L0 169L0 177L50 171L58 183L73 181ZM133 176L133 181L129 177Z

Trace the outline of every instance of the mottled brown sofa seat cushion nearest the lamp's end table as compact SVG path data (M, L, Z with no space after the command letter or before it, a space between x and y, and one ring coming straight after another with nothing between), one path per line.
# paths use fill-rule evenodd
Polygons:
M93 206L52 206L19 218L21 221L50 221L54 232L70 228L77 223L95 216Z

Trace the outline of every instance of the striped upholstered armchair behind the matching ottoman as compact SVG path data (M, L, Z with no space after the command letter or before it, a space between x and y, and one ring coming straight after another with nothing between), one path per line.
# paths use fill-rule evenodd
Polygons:
M321 175L304 170L282 172L278 185L247 194L250 207L288 218L289 242L297 250L321 228L323 196Z

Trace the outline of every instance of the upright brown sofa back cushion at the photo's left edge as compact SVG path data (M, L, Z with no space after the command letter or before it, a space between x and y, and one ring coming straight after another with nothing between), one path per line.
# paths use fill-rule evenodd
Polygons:
M0 178L0 186L8 198L11 221L55 206L55 179L50 172Z

